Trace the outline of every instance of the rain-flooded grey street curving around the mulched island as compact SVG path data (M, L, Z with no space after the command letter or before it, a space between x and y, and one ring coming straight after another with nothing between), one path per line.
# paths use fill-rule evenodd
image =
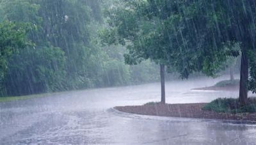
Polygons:
M238 92L191 90L221 79L167 82L166 102L237 97ZM255 144L255 125L140 116L111 109L159 101L160 95L159 83L150 83L0 103L0 144Z

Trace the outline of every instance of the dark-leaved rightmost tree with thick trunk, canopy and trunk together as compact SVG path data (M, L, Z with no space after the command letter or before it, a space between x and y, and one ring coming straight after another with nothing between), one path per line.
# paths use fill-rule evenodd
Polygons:
M156 1L150 1L156 3ZM252 57L255 54L255 1L179 1L175 5L166 8L170 16L178 15L183 24L181 34L189 49L199 53L204 67L199 67L207 74L211 74L212 67L225 62L228 56L238 56L237 50L230 47L240 44L241 76L239 101L246 104L248 98L248 67L254 66ZM164 10L162 10L164 11ZM161 11L161 13L162 13ZM171 31L172 32L172 31ZM191 33L191 34L188 34ZM184 41L180 39L180 42ZM175 43L172 41L172 43ZM184 43L180 43L184 44ZM199 47L198 47L199 46ZM196 50L199 48L198 50ZM229 49L228 49L229 48ZM186 55L184 55L186 57ZM213 59L215 58L215 59ZM211 62L210 62L210 61ZM197 62L197 61L196 61ZM210 64L210 65L209 65ZM205 67L209 66L209 67ZM253 69L252 69L253 70ZM251 71L251 73L253 73ZM253 75L252 75L253 76Z

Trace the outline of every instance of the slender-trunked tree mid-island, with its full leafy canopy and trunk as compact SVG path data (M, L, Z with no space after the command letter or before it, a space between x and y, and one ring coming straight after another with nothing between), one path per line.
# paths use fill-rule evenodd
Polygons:
M103 43L127 46L129 52L124 55L127 64L138 64L145 59L160 64L161 102L165 102L164 66L180 72L182 78L188 78L191 72L200 69L213 76L221 60L225 59L210 55L205 62L200 61L204 54L199 57L198 51L189 49L189 45L195 44L186 41L186 37L192 37L188 33L190 28L186 27L178 10L173 15L168 10L168 4L173 7L176 4L166 4L166 1L118 3L108 12L110 29L101 32ZM215 67L211 67L211 59L218 60Z

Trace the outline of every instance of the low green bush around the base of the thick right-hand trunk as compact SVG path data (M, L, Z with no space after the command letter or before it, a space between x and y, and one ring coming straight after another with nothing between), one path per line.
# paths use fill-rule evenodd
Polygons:
M202 109L218 113L255 113L256 98L249 98L246 106L242 106L238 99L219 98L205 105Z

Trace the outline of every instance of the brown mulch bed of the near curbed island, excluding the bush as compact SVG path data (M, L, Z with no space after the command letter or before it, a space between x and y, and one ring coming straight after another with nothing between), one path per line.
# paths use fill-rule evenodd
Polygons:
M143 114L151 116L170 116L182 118L202 118L234 121L256 121L256 113L216 113L204 111L202 107L206 103L196 104L147 104L144 106L117 106L118 111L125 113Z

